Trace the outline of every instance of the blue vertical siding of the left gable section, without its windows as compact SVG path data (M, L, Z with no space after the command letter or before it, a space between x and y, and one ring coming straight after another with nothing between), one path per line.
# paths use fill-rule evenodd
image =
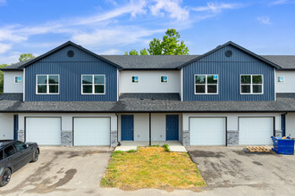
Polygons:
M66 55L69 50L75 53L72 58ZM38 74L60 75L59 94L36 94ZM105 94L81 94L82 74L104 74ZM117 101L117 69L72 45L27 67L25 79L25 101L28 102Z

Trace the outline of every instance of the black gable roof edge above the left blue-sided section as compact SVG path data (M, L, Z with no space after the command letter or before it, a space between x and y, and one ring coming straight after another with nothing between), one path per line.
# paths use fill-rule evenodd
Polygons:
M26 67L30 66L31 64L33 64L34 62L40 61L41 59L45 58L46 56L49 56L50 54L55 53L55 52L63 49L64 47L66 47L68 45L72 45L72 46L80 49L81 51L84 51L85 53L89 53L90 55L96 57L97 59L100 59L102 61L108 62L109 64L113 65L114 67L116 67L118 69L122 69L121 66L117 65L113 61L108 61L105 58L103 58L100 55L98 55L97 53L92 53L91 51L87 50L86 48L84 48L84 47L82 47L80 45L76 45L75 43L72 43L71 41L68 41L68 42L64 43L63 45L60 45L58 47L55 47L55 49L53 49L53 50L51 50L51 51L49 51L47 53L44 53L44 54L38 56L37 58L31 59L30 61L27 61L26 63L21 64L21 66L19 66L18 69L26 68Z

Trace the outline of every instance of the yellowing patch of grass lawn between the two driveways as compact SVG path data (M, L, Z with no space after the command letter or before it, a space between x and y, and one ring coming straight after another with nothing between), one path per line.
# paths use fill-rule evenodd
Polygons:
M197 164L188 153L164 147L139 147L138 151L114 151L100 184L121 189L195 188L206 186Z

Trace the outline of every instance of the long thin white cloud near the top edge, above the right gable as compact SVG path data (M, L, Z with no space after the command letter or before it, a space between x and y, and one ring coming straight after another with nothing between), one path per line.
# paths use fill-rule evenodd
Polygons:
M224 4L224 3L213 3L213 2L208 2L206 3L206 6L199 6L192 8L191 10L196 11L196 12L222 12L223 10L233 10L233 9L238 9L241 7L241 4Z

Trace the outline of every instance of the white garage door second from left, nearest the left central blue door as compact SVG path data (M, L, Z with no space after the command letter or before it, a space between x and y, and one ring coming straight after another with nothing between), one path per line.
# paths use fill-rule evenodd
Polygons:
M110 118L74 118L74 145L110 145Z

